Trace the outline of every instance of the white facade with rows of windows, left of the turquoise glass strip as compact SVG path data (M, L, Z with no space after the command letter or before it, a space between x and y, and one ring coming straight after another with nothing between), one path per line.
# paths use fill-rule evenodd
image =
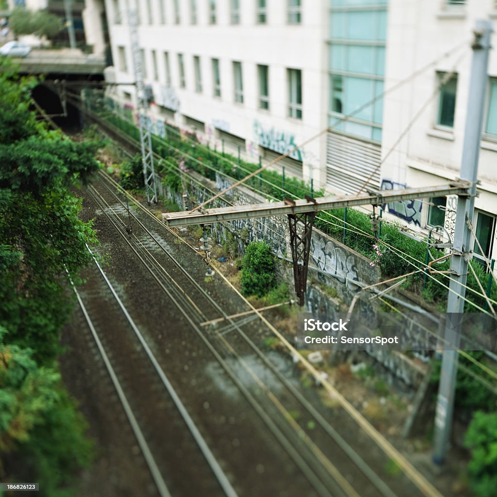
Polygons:
M307 4L307 8L301 6ZM324 0L149 0L139 7L146 84L153 120L205 135L218 150L272 160L327 125ZM117 82L133 81L124 0L106 11ZM136 104L133 87L118 90ZM317 183L324 134L283 161L286 172Z

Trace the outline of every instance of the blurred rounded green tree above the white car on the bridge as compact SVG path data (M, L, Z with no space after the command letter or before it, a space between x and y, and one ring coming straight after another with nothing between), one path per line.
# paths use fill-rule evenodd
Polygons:
M21 6L12 10L8 22L16 35L35 34L52 38L63 28L62 20L57 15L47 10L32 11Z

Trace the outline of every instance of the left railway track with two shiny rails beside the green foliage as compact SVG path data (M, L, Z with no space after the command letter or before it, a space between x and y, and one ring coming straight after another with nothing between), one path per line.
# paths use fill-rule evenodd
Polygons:
M105 290L111 293L117 306L106 305L104 313L95 312L102 306L102 288L98 283L93 285L93 289L86 288L84 292L87 306L78 291L74 290L159 495L171 496L166 479L174 480L175 489L181 488L181 481L185 480L180 465L174 471L169 471L168 478L165 478L157 462L174 461L177 459L176 447L181 446L183 451L188 451L189 464L196 468L197 479L195 482L190 481L190 484L194 483L198 488L189 490L196 495L222 493L237 497L116 289L98 261L95 258L93 260L105 282ZM109 332L109 323L112 323L112 332ZM117 342L118 353L114 352ZM158 391L166 391L167 395L158 400ZM216 483L213 483L214 480ZM177 491L173 495L177 495Z

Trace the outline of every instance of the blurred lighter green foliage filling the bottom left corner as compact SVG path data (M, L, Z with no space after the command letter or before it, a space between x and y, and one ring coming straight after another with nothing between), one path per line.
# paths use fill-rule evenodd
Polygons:
M71 475L92 455L86 422L60 374L38 366L31 349L4 344L5 332L0 327L0 453L10 458L1 469L8 477L18 470L10 461L22 461L18 478L36 475L44 495L72 496Z

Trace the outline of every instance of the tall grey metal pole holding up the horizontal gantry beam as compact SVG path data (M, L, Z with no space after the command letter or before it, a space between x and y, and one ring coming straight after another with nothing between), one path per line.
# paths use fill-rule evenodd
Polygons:
M490 34L492 23L489 20L478 20L473 42L473 61L471 65L471 81L469 86L468 110L464 134L463 157L461 162L461 179L470 181L469 196L459 195L457 201L456 225L450 269L450 291L447 300L447 313L464 312L464 296L468 273L468 256L470 253L471 232L466 217L473 220L475 208L476 183L478 176L478 159L482 140L482 123L485 96L487 94L487 67L490 50ZM459 347L460 334L457 327L451 326L448 318L445 327L445 339ZM447 444L452 430L452 414L454 412L454 392L456 386L458 352L444 350L442 370L438 387L438 398L435 414L435 433L433 444L433 462L443 463Z

